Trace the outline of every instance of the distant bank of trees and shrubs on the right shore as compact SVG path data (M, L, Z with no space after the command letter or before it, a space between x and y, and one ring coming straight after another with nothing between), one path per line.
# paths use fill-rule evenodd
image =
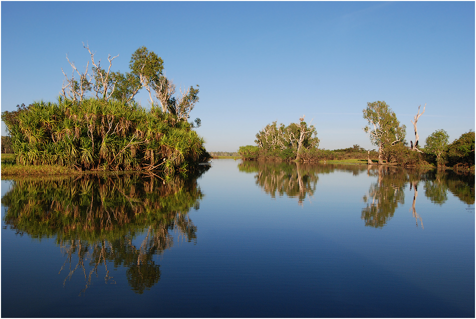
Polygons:
M256 145L241 146L238 153L246 160L281 160L281 161L323 161L332 159L364 159L369 164L396 164L401 166L435 166L474 167L474 132L462 134L451 144L448 134L440 129L433 132L425 140L422 147L419 143L417 121L425 112L425 107L415 115L413 129L415 141L410 146L405 140L406 126L401 125L395 112L384 101L367 103L363 110L363 118L368 125L364 132L369 134L377 151L364 150L359 145L341 150L319 149L319 139L315 126L307 126L304 116L299 123L277 125L268 124L256 134Z

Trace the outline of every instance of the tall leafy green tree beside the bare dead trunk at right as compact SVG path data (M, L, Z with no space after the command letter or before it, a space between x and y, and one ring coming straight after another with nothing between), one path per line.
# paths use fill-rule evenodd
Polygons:
M378 163L383 164L386 146L405 144L405 125L400 126L395 112L385 101L369 102L362 112L369 123L364 131L370 134L370 140L378 146Z

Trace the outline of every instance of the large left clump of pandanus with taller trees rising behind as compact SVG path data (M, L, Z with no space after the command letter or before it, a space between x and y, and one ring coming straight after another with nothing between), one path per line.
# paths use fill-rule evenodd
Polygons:
M163 61L146 47L131 56L130 72L112 72L101 66L89 46L89 62L65 81L57 102L18 105L2 113L10 135L10 150L23 165L60 164L78 170L187 171L210 155L204 140L188 122L198 102L198 85L176 95L175 85L163 72ZM135 102L145 88L150 109ZM2 151L7 148L2 147Z

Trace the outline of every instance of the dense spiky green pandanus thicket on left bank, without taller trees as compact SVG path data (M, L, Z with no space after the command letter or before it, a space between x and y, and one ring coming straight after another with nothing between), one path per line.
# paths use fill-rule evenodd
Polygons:
M203 139L189 123L134 102L59 99L15 115L9 132L18 163L172 173L186 170L204 151Z

